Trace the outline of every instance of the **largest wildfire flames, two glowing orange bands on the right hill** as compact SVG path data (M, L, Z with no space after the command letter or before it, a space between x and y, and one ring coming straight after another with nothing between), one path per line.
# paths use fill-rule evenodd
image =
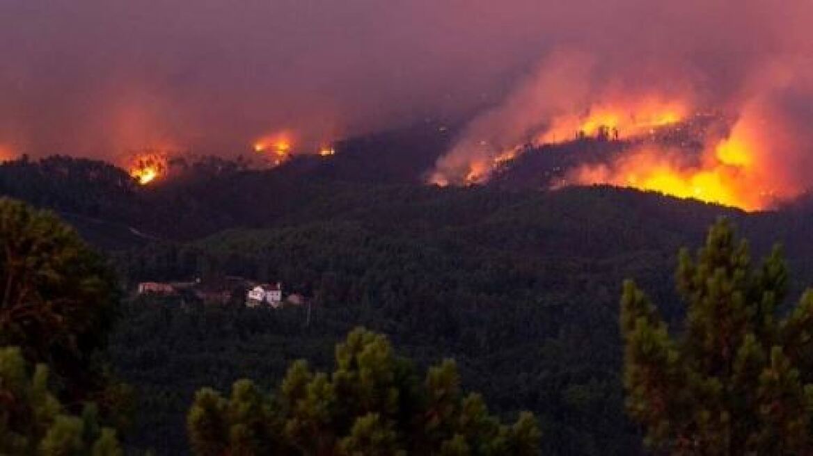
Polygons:
M581 115L554 117L533 146L558 144L581 138L624 141L625 149L606 161L576 166L563 174L555 187L608 184L659 191L679 198L692 198L745 210L767 209L777 201L800 193L798 183L788 183L776 168L776 148L793 147L791 136L779 121L766 125L763 107L743 108L733 124L717 118L721 131L703 131L691 150L676 144L662 144L658 131L684 131L693 121L689 103L648 98L641 101L593 105ZM706 115L706 114L704 114ZM702 118L702 116L701 116ZM728 119L732 120L732 119ZM663 130L660 130L663 129ZM771 132L767 136L767 131ZM783 132L785 135L783 136ZM478 144L491 147L486 141ZM501 153L472 154L465 163L463 183L487 181L495 170L524 153L517 146ZM484 157L486 156L486 157ZM454 182L437 172L430 183L445 186ZM458 181L459 182L459 181Z

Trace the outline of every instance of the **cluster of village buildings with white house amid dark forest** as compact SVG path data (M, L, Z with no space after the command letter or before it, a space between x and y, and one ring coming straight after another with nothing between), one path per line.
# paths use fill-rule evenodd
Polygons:
M237 294L245 297L246 307L268 306L280 308L285 304L299 306L305 298L298 293L283 294L282 283L257 283L242 277L226 277L217 283L194 282L141 282L137 295L181 296L193 295L208 303L228 303Z

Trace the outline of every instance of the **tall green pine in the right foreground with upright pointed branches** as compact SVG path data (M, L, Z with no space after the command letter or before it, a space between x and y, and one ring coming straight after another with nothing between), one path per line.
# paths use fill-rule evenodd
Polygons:
M673 336L633 282L621 332L629 414L669 454L808 454L813 291L780 316L787 269L775 248L759 269L728 222L711 227L676 282L686 303Z

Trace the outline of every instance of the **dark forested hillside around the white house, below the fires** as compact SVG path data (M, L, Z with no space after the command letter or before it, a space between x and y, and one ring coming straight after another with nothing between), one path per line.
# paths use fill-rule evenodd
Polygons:
M365 325L422 367L454 357L463 385L499 415L533 411L547 454L634 454L641 436L620 382L624 278L676 320L676 251L725 216L757 256L785 243L793 284L813 283L805 204L749 214L612 187L439 188L238 169L150 188L94 162L55 163L0 167L0 192L56 209L105 249L126 290L237 275L311 299L310 319L239 299L125 304L109 357L142 413L124 441L159 453L188 448L184 417L200 386L251 377L267 387L298 358L328 369L337 340Z

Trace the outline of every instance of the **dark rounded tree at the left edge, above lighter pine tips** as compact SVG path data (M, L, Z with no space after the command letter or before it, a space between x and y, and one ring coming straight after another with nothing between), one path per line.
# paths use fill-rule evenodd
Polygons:
M20 346L81 402L105 388L93 355L106 342L117 285L102 257L53 213L0 198L0 345Z

